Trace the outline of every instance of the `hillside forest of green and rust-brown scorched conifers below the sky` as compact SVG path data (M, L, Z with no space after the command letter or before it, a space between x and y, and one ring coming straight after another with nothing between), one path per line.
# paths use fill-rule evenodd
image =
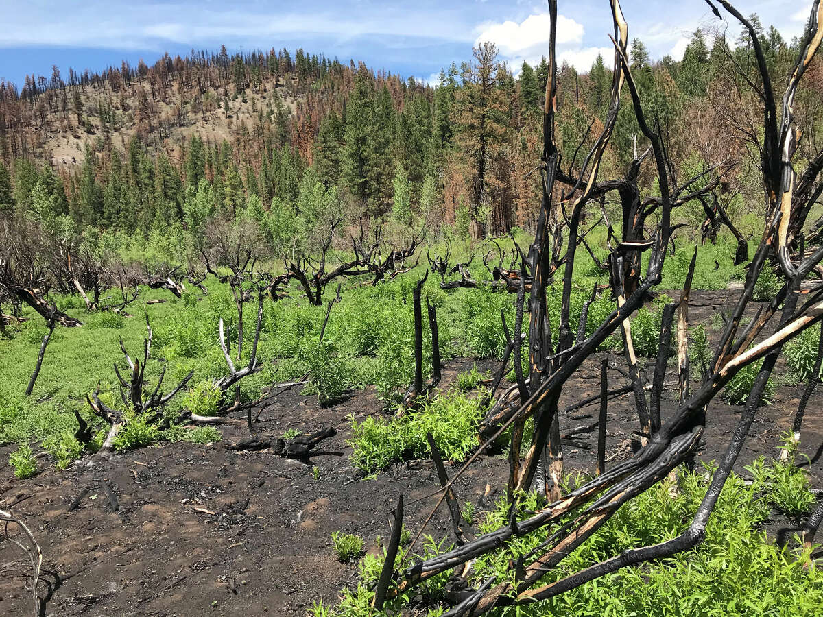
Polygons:
M797 41L760 32L770 72L783 83ZM755 71L746 35L695 32L681 62L654 61L635 39L631 59L676 173L723 160L735 165L723 183L729 207L760 204L747 140L762 118L746 82ZM599 133L611 63L597 58L588 73L568 65L558 73L562 169L579 169ZM809 72L796 105L801 153L821 130L819 60ZM339 188L361 214L393 211L435 233L444 224L475 236L528 229L539 205L546 74L545 60L501 63L491 44L445 69L435 86L302 49L166 54L151 67L123 63L100 74L65 76L54 67L19 91L0 84L0 209L41 222L68 217L79 230L185 227L198 194L210 215L235 216L253 197L264 210L275 199L295 204L310 168L313 182ZM646 147L635 141L626 89L623 96L604 178L623 177Z

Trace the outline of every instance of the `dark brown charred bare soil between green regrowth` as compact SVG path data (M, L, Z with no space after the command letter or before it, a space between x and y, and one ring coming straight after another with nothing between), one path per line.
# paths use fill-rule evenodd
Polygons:
M728 308L729 293L694 292L692 322L709 322ZM716 335L715 335L716 336ZM561 407L598 392L599 358L590 358L565 388ZM481 370L495 363L477 362ZM445 371L448 384L472 360L453 360ZM670 371L667 383L673 383ZM622 384L615 378L611 387ZM737 462L737 471L758 456L774 456L779 434L787 430L797 409L802 384L781 387L772 406L761 407ZM668 392L672 395L672 390ZM593 420L597 406L561 415L561 432ZM667 399L663 421L673 411ZM700 459L717 458L725 449L739 417L739 408L723 401L709 406L706 444ZM374 392L353 392L349 400L327 409L316 397L290 391L269 401L261 429L281 435L332 425L337 436L323 442L310 462L277 457L272 452L233 452L225 448L246 435L245 429L224 430L224 440L210 445L165 444L111 457L89 470L50 469L31 480L16 480L0 466L0 508L13 505L40 541L44 553L40 597L43 615L303 615L314 601L333 602L337 591L356 581L356 566L340 564L331 534L342 530L366 540L376 550L376 536L388 535L388 513L398 494L407 502L437 487L430 461L395 465L363 479L351 466L346 444L347 416L358 420L381 413ZM630 455L626 443L637 429L631 395L609 404L607 454L614 462ZM591 449L565 447L567 471L593 466ZM802 452L813 485L823 486L823 391L811 398L802 434ZM7 460L11 448L0 448ZM314 479L314 466L319 478ZM450 468L453 472L455 468ZM479 509L496 499L507 473L501 457L481 457L458 480L458 501ZM117 495L114 512L103 482ZM486 484L493 492L484 500ZM69 505L91 486L80 506ZM433 505L431 500L407 508L405 522L416 531ZM198 509L199 508L199 509ZM429 532L449 534L447 513L439 512ZM770 531L781 536L791 523L775 515ZM0 544L0 615L30 615L30 594L23 587L26 569L19 552Z

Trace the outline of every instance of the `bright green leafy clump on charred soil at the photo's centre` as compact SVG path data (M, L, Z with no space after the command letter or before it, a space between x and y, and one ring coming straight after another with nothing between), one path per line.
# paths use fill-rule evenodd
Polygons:
M484 411L477 399L449 392L426 401L420 411L391 420L369 416L358 424L351 417L351 462L370 473L403 459L428 457L426 433L435 438L445 460L464 461L477 446L477 423Z

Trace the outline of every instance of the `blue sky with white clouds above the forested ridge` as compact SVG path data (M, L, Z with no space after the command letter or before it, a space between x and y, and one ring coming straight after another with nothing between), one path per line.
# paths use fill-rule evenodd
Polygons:
M587 70L598 49L610 53L608 0L559 0L561 58ZM718 26L704 0L623 0L629 36L644 40L654 58L679 58L691 32ZM737 0L744 14L757 12L787 39L802 32L811 1ZM154 63L165 51L296 49L348 62L363 60L375 69L431 79L440 67L471 58L472 45L494 40L501 56L518 68L537 62L546 49L545 3L371 2L338 0L0 0L0 77L22 85L32 72L51 76L100 70L143 58ZM732 39L740 27L728 24Z

